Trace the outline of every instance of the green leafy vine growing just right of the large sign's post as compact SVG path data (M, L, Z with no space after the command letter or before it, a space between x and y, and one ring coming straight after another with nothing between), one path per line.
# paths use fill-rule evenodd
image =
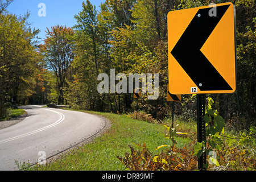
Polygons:
M208 105L204 115L205 127L206 127L206 140L203 142L197 142L194 146L194 155L197 158L200 158L201 155L205 154L208 156L208 163L204 164L204 167L207 169L209 164L214 164L216 167L220 167L220 162L226 162L223 157L217 157L216 155L221 155L226 153L232 147L232 144L238 140L238 146L242 144L255 141L256 129L251 126L250 134L247 135L245 132L240 132L240 137L234 137L232 135L224 134L225 120L218 115L217 110L212 109L212 104L214 101L212 98L208 97ZM226 146L228 145L229 148ZM237 150L237 148L236 148ZM241 151L241 150L238 150ZM242 155L238 152L239 155ZM230 157L231 158L231 157ZM229 164L233 164L235 160L232 160ZM228 165L228 164L227 164Z

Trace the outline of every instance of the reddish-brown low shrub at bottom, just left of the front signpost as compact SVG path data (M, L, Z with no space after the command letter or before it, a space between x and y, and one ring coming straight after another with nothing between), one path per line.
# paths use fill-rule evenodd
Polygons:
M185 171L197 169L197 158L193 155L192 147L174 147L162 150L159 154L152 153L143 143L136 145L139 149L130 147L130 154L125 153L125 157L117 156L121 163L133 171ZM190 152L189 152L190 151ZM171 154L172 153L172 154Z

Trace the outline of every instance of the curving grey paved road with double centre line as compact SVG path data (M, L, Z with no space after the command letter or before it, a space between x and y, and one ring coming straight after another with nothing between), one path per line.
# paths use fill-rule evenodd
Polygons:
M22 106L27 117L0 130L0 170L18 170L15 160L36 164L102 131L106 121L79 111ZM39 162L42 162L39 160ZM43 161L44 162L44 161Z

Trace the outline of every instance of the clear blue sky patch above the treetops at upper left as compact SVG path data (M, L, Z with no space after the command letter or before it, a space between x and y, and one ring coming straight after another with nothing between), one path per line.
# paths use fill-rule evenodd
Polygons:
M46 28L51 28L57 24L67 27L73 27L76 24L74 15L77 15L82 10L82 2L86 0L14 0L7 7L9 13L16 15L24 15L30 12L28 22L31 23L32 28L40 30L39 38L44 39L46 35ZM98 6L106 0L90 0L92 5ZM39 16L39 3L46 5L46 16Z

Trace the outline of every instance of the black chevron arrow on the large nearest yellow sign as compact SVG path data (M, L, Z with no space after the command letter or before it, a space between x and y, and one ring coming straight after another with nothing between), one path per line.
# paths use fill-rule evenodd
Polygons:
M209 10L212 7L197 11L171 51L177 62L202 91L232 90L230 85L200 51L229 6L217 6L217 16L209 16Z

